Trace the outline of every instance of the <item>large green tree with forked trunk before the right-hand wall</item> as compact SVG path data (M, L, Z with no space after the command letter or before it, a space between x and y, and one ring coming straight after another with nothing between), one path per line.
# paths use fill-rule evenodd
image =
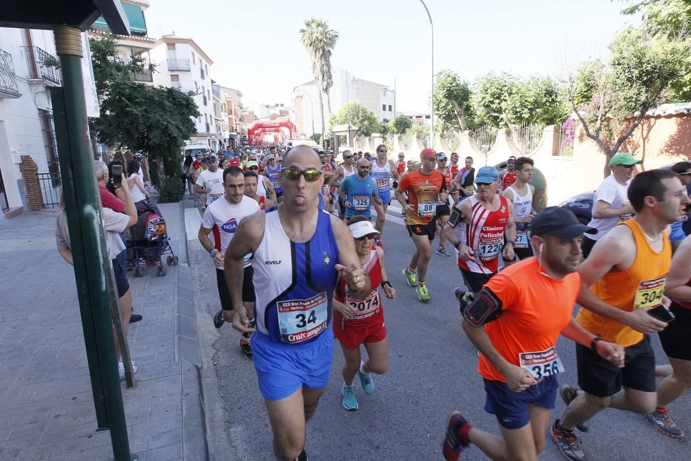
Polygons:
M629 28L609 44L607 62L586 62L569 79L567 97L585 135L605 153L607 164L641 124L645 113L665 102L665 88L685 69L685 42L651 37Z

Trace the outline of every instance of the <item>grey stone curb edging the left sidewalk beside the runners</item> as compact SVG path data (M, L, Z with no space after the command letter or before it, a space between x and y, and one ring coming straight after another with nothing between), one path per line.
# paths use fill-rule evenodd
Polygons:
M182 226L184 227L184 207ZM175 359L182 362L182 460L209 460L206 411L200 367L196 307L192 291L192 271L187 264L187 238L182 232L180 254L185 258L178 265L176 283Z

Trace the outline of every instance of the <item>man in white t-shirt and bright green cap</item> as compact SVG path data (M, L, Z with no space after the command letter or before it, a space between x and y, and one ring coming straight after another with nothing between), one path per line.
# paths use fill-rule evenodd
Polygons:
M589 227L598 229L597 234L583 234L580 243L583 258L587 258L595 243L603 238L612 227L634 216L627 191L634 172L634 166L643 160L636 160L630 153L618 153L609 160L612 174L607 176L595 191L593 197L593 218Z

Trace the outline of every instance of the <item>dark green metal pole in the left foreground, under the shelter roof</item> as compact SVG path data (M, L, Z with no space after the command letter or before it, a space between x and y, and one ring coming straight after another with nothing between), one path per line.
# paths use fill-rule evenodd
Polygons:
M66 149L59 149L59 161L75 264L79 309L83 314L86 312L82 317L84 339L87 346L93 346L94 343L96 345L97 363L93 361L93 351L87 355L92 388L96 390L94 400L104 400L115 460L129 461L137 458L132 456L129 450L122 389L115 359L113 321L109 310L106 279L106 269L110 270L108 265L111 261L104 252L101 205L89 147L82 79L82 36L79 29L56 26L55 48L63 76L64 117L60 118L66 122L59 136L62 144L66 144L63 146ZM58 126L56 131L57 128ZM99 387L102 394L98 390ZM96 406L98 408L98 402Z

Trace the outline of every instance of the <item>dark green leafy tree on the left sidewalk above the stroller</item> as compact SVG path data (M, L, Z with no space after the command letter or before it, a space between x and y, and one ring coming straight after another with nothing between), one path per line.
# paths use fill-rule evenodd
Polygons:
M177 179L180 146L199 116L193 93L134 82L142 62L120 62L112 38L90 39L89 46L101 104L101 116L89 121L93 133L100 142L145 153L155 162L158 185L167 176Z

